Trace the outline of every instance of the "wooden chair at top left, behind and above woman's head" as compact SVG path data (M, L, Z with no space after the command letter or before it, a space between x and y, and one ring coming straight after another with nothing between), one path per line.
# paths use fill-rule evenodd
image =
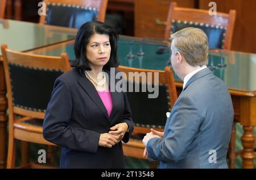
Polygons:
M105 21L108 0L44 0L46 15L40 24L79 28L90 20Z

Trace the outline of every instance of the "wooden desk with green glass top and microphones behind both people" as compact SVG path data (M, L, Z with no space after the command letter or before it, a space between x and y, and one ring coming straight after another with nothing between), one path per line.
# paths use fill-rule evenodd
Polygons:
M141 40L138 38L125 37L119 39L118 59L121 65L144 69L163 70L170 62L168 49L162 54L157 55L156 51L159 44L155 45L131 45L134 59L128 59L131 40ZM128 43L127 43L128 42ZM61 52L67 52L70 59L75 59L73 52L73 41L52 45L46 48L36 49L28 53L39 55L58 56ZM132 43L131 43L132 44ZM137 56L137 52L142 47L145 56ZM225 66L221 67L221 64ZM210 51L208 66L212 67L213 73L221 78L229 87L232 96L235 118L240 120L243 126L243 136L241 137L243 152L243 168L254 167L254 144L255 136L253 133L256 125L256 55L234 51ZM178 90L182 89L183 83L175 75Z

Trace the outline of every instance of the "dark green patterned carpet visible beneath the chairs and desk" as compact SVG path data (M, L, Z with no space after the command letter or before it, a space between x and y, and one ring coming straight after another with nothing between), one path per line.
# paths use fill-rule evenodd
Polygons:
M236 134L236 150L242 150L242 144L241 144L241 136L243 134L243 129L240 124L237 123L236 125L237 129L237 134ZM256 128L254 129L254 134L256 136ZM17 161L16 165L20 164L20 149L19 145L20 143L17 142ZM38 158L38 150L39 149L47 149L47 146L44 145L38 145L38 144L31 144L31 161L35 162ZM255 154L256 155L256 154ZM56 150L55 153L55 165L59 166L59 156L60 156L60 151ZM150 168L149 162L147 160L141 160L138 158L132 158L132 157L125 157L125 164L126 168L128 169L137 169L137 168L143 168L143 169L148 169ZM236 168L242 168L242 158L238 156L236 158ZM254 167L256 168L256 158L254 160Z

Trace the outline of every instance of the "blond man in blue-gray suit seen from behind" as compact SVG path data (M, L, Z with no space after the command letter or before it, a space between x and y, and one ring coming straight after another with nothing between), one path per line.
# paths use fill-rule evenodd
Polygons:
M159 168L228 168L234 111L228 88L207 68L208 38L199 28L171 36L171 63L184 81L164 132L144 136L144 157Z

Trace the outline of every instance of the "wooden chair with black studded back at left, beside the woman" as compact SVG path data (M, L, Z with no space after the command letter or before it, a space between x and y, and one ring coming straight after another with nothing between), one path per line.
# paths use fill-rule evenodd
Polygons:
M15 140L53 145L43 138L44 114L55 79L70 66L66 53L53 57L12 51L7 45L1 49L9 108L7 168L14 168Z

